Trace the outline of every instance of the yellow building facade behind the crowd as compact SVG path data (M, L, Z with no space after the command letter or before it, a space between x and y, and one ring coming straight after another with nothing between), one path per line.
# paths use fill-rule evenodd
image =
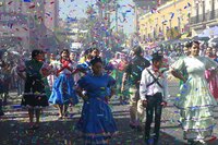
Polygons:
M169 1L141 16L141 43L181 37L189 31L191 5L189 0Z

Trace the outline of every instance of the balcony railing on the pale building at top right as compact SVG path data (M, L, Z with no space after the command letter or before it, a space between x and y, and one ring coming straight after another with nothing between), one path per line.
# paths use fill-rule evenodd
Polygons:
M197 24L197 23L202 23L202 22L216 20L216 19L218 19L218 10L209 11L205 14L199 14L199 15L193 16L190 20L190 24Z

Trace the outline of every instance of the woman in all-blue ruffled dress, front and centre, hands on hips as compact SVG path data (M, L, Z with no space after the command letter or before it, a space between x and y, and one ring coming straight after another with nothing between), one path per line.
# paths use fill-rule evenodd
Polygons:
M76 92L84 99L77 130L83 133L85 145L107 145L117 133L117 125L107 100L114 94L116 81L102 73L100 58L90 60L92 73L77 82Z

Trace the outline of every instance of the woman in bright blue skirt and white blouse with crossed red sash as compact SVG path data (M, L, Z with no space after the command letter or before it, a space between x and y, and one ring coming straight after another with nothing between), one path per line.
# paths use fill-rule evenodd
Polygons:
M58 105L59 119L68 116L69 104L75 105L78 102L74 90L74 69L69 55L69 50L63 49L61 51L60 62L53 67L58 78L55 81L49 102Z

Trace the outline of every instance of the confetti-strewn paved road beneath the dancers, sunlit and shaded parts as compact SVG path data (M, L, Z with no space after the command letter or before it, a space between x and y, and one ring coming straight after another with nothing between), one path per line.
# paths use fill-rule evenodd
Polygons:
M178 83L170 83L170 94L178 94ZM82 138L76 134L74 128L80 118L81 106L70 108L70 117L64 120L57 120L58 110L48 107L44 110L41 125L37 131L29 131L28 116L25 110L16 108L20 104L19 97L11 93L10 105L4 107L5 116L0 118L0 144L1 145L83 145ZM170 98L170 99L173 99ZM111 145L144 145L143 132L137 132L129 128L129 107L119 105L118 98L110 102L113 110L120 133L114 136ZM218 118L218 109L215 112ZM164 109L161 120L160 145L185 145L182 138L182 130L178 123L178 110L169 104ZM216 122L218 122L216 120ZM218 136L218 129L215 129ZM218 141L208 142L208 145L217 145Z

